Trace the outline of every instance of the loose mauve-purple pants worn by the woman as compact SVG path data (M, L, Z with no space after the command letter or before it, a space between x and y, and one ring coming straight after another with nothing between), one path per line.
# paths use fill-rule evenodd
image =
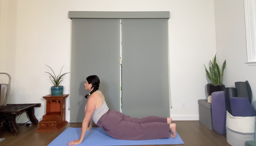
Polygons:
M96 124L115 139L148 140L169 138L167 118L149 116L132 118L119 111L108 110Z

